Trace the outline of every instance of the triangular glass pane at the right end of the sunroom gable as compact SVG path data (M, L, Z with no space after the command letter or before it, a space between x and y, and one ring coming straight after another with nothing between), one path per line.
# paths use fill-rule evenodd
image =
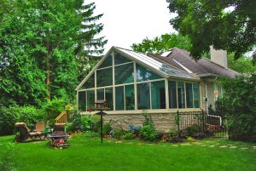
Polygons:
M159 75L155 74L154 72L144 68L143 66L140 66L137 64L136 67L137 67L137 82L143 82L143 81L162 78Z

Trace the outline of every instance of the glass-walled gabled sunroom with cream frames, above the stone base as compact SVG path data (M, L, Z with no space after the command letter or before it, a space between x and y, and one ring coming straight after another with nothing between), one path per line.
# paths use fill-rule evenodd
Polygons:
M82 114L93 114L96 100L113 114L201 108L198 77L124 48L112 47L76 90Z

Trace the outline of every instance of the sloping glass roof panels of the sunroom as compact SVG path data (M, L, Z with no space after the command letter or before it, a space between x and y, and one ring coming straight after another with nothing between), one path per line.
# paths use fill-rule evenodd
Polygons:
M117 47L115 47L117 48ZM117 48L120 51L122 51L125 54L130 55L132 58L135 58L136 60L141 61L142 63L146 64L147 66L150 66L154 68L157 71L160 71L166 75L166 77L183 77L183 78L195 78L190 76L188 73L184 71L180 71L177 69L172 68L171 66L168 66L164 63L161 63L158 60L154 60L153 58L149 57L147 54L134 52L128 49L124 48Z

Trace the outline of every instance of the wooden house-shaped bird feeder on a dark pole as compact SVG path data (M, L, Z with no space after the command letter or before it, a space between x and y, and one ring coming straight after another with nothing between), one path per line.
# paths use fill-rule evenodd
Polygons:
M103 124L103 115L107 115L107 113L103 112L103 111L108 111L110 110L108 108L108 102L106 100L96 100L95 104L95 111L100 111L97 112L96 115L100 115L101 116L101 139L103 142L103 134L102 134L102 124Z

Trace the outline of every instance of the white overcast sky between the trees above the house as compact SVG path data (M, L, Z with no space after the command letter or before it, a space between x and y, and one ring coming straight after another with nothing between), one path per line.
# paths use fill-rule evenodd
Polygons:
M174 32L169 20L166 0L89 0L96 3L94 14L103 14L100 23L104 29L99 36L105 36L108 44L105 53L112 46L131 49L132 43L141 43L145 37L152 39Z

